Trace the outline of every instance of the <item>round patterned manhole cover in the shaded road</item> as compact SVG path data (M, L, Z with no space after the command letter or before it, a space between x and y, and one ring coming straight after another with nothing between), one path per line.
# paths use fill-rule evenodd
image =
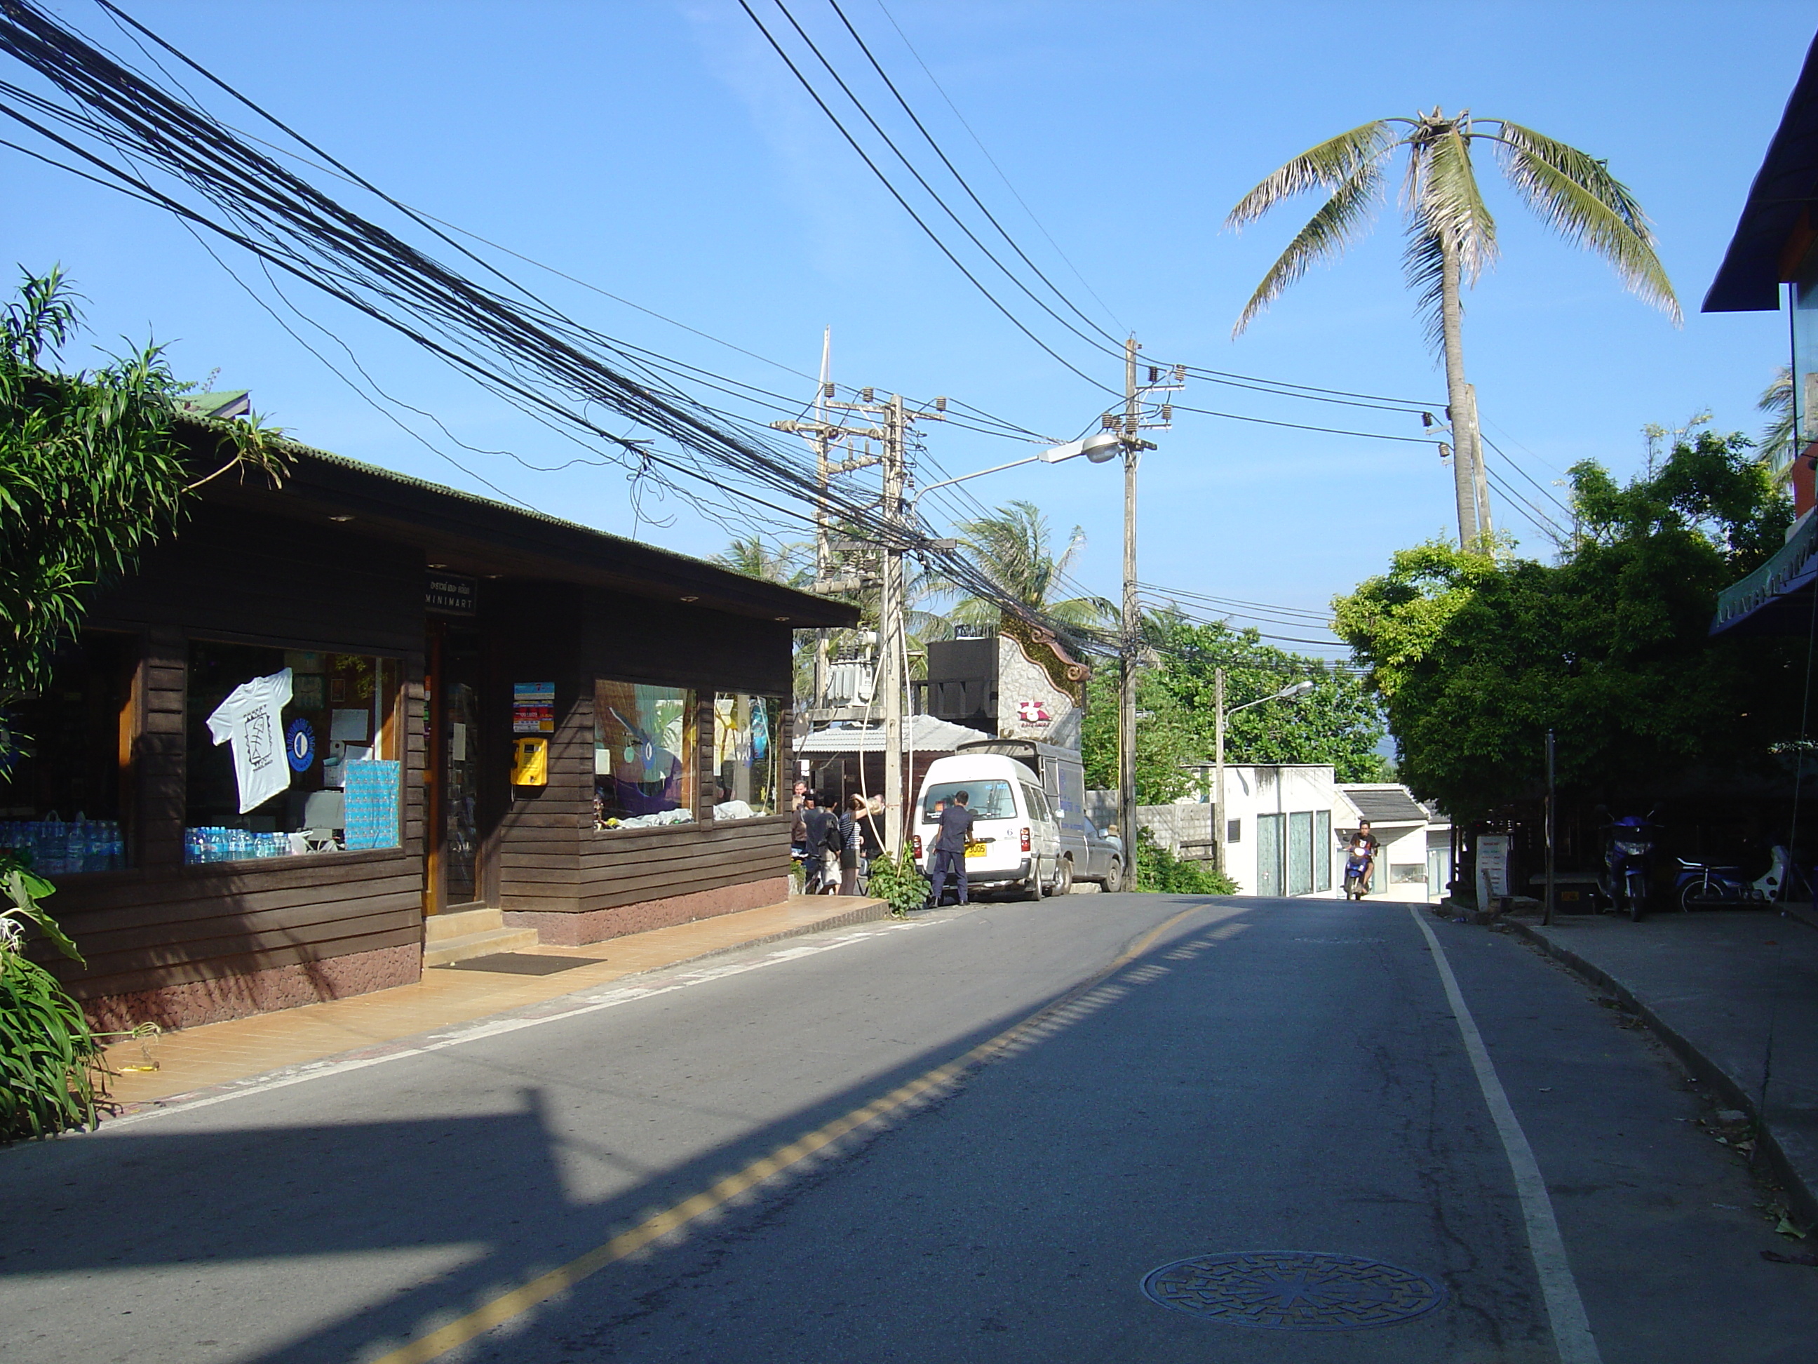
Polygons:
M1142 1291L1164 1308L1274 1331L1354 1331L1431 1311L1445 1289L1425 1275L1356 1255L1238 1251L1153 1269Z

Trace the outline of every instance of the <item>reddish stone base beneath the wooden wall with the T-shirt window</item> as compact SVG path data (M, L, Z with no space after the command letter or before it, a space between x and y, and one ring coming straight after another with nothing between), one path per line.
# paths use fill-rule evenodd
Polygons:
M125 1031L144 1022L175 1031L409 986L422 975L424 949L420 944L407 944L131 995L98 995L84 1000L82 1011L96 1031Z

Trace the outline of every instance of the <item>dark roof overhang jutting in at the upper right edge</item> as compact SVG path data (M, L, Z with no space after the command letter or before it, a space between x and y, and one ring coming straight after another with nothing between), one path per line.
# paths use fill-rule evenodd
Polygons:
M1767 156L1754 175L1742 218L1731 236L1723 264L1705 293L1705 313L1771 313L1780 307L1780 284L1818 240L1818 38L1805 51L1805 65L1780 127L1767 144Z

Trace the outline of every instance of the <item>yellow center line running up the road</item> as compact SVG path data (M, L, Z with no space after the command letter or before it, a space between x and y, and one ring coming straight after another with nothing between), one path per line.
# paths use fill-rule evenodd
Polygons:
M953 1060L945 1062L944 1066L936 1066L934 1069L918 1075L907 1084L896 1086L887 1095L873 1098L864 1108L854 1108L851 1113L834 1118L824 1128L816 1128L814 1131L796 1137L787 1146L778 1146L767 1157L764 1157L762 1160L753 1160L736 1175L727 1175L716 1184L709 1184L705 1189L693 1195L691 1199L684 1199L673 1208L665 1208L664 1211L647 1217L629 1231L613 1237L604 1246L594 1246L585 1255L573 1259L567 1264L551 1269L549 1273L538 1275L536 1279L520 1284L509 1293L502 1293L491 1302L474 1308L465 1317L456 1317L447 1326L442 1326L431 1331L429 1335L418 1337L409 1344L398 1346L389 1355L380 1355L376 1360L373 1360L373 1364L427 1364L427 1360L440 1359L447 1351L467 1344L476 1335L484 1335L485 1331L491 1331L494 1326L502 1326L509 1322L513 1317L524 1315L538 1302L545 1302L556 1297L558 1293L565 1293L567 1289L574 1288L574 1284L591 1275L596 1275L609 1264L616 1264L618 1260L624 1260L627 1255L634 1255L636 1251L644 1249L651 1242L662 1240L669 1233L685 1228L694 1219L711 1213L716 1208L722 1208L724 1204L731 1202L742 1193L747 1193L764 1180L780 1175L782 1171L789 1169L794 1164L800 1164L802 1160L831 1146L842 1137L860 1128L865 1128L876 1122L878 1118L887 1117L889 1113L894 1113L916 1102L918 1098L951 1088L954 1080L958 1080L969 1069L974 1069L976 1066L982 1066L998 1053L1005 1051L1024 1033L1036 1028L1040 1022L1044 1022L1049 1015L1056 1013L1058 1009L1064 1009L1067 1004L1071 1004L1080 995L1087 993L1089 989L1104 982L1107 977L1129 966L1133 960L1149 951L1149 948L1154 946L1154 940L1160 938L1164 933L1167 933L1171 928L1174 928L1174 924L1178 924L1182 918L1187 918L1189 915L1200 913L1204 908L1205 906L1189 906L1187 909L1182 909L1178 915L1173 915L1171 918L1164 920L1156 928L1144 933L1129 948L1125 948L1116 957L1116 960L1111 962L1111 966L1094 975L1091 980L1085 980L1084 984L1078 984L1073 989L1069 989L1060 998L1044 1004L1040 1009L1031 1013L1022 1022L1005 1028L1002 1033L985 1042L980 1042L971 1051L965 1051L954 1057Z

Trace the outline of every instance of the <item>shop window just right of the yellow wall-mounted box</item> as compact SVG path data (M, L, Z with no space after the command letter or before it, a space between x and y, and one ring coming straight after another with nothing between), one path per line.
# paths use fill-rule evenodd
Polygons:
M604 829L685 824L698 778L694 693L645 682L593 684L593 807Z

